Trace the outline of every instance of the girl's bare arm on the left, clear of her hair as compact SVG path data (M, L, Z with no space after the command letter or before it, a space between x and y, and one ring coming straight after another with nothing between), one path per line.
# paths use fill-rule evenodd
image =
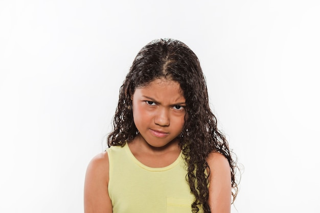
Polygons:
M108 194L109 159L107 152L94 157L86 171L84 181L84 213L111 213Z

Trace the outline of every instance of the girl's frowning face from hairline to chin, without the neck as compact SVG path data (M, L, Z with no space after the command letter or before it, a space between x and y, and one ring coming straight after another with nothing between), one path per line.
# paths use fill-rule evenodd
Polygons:
M180 134L185 124L186 99L179 83L156 79L136 88L131 99L134 124L150 146L164 147Z

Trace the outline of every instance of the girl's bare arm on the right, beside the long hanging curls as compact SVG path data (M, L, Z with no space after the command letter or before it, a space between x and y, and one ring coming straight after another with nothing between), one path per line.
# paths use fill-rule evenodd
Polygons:
M230 213L231 211L231 172L228 160L218 152L207 158L210 167L209 205L211 212Z

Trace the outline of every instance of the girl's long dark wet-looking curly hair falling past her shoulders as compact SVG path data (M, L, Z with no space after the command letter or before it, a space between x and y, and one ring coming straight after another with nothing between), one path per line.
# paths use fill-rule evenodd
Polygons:
M107 137L108 147L124 146L138 134L133 122L131 96L135 88L159 78L178 82L186 99L185 126L179 135L179 146L188 168L186 179L196 198L191 205L192 211L198 212L202 206L204 212L211 212L208 204L210 168L206 161L211 152L223 154L229 162L234 201L238 193L235 155L229 149L225 136L217 129L217 119L209 106L207 84L199 60L181 41L153 40L136 55L120 88L113 131ZM205 172L208 170L209 173Z

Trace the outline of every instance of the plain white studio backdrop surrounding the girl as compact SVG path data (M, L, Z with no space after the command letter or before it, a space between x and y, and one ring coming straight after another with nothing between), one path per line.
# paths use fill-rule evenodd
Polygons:
M83 212L119 87L156 38L199 57L243 164L232 212L319 212L318 1L0 0L0 212Z

